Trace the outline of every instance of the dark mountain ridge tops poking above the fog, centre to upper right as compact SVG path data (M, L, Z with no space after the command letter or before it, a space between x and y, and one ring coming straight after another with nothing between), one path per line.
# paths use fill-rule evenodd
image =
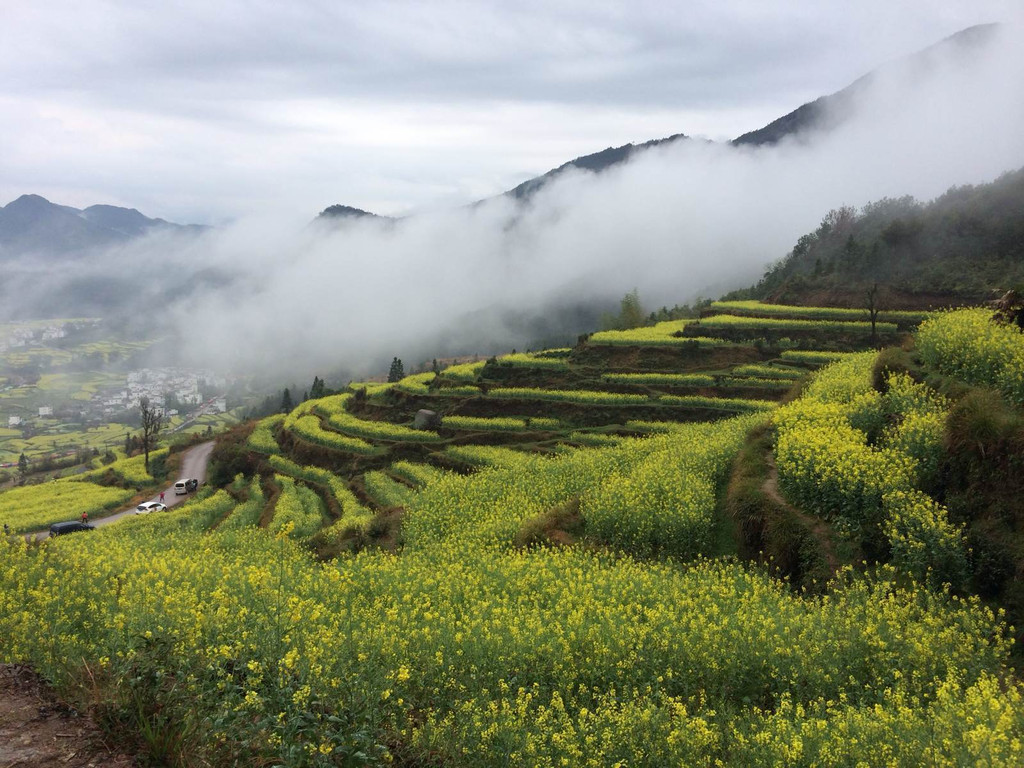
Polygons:
M729 143L733 146L767 146L776 144L785 138L799 138L801 134L811 131L836 129L852 116L853 104L857 95L876 78L895 70L927 73L933 69L934 62L939 56L950 55L970 58L976 55L979 49L991 42L998 29L998 24L969 27L918 53L884 65L873 72L858 78L846 88L828 96L821 96L813 101L809 101L790 114L773 120L763 128L750 131L732 139ZM666 138L655 138L640 144L630 143L623 146L609 146L593 155L584 155L583 157L563 163L541 176L523 181L521 184L503 193L503 195L515 198L516 200L528 200L549 181L570 169L600 173L629 161L637 153L644 152L645 150L655 146L666 146L677 141L690 140L692 138L686 134L676 133ZM479 201L474 205L482 202L484 201ZM349 208L348 206L331 206L321 213L319 218L327 219L336 216L337 214L334 213L335 209L356 212L359 216L373 215L357 208ZM351 214L347 215L351 217Z

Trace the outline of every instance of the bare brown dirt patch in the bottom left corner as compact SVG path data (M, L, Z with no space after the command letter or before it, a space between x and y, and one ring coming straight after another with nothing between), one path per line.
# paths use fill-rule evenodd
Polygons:
M28 667L0 665L0 768L129 768L92 719Z

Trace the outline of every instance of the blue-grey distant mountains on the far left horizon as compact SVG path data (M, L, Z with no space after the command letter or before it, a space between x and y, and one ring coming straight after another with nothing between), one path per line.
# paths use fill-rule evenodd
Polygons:
M197 224L151 219L134 208L78 209L23 195L0 208L0 260L17 256L76 257L154 231L201 232Z

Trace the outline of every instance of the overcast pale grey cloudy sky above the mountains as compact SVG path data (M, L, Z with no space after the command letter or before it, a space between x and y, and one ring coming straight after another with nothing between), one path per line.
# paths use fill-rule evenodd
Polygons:
M0 205L442 212L733 138L1019 0L0 0ZM969 179L966 179L969 180Z

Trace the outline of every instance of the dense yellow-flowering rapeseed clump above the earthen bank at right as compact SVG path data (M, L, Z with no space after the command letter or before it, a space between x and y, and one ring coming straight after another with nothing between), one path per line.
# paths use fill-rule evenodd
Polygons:
M829 365L806 393L773 419L779 480L808 512L866 535L888 537L892 560L919 579L963 584L967 550L961 526L919 489L928 458L941 446L946 404L909 377L893 376L886 394L871 386L873 352ZM872 444L886 415L900 419ZM939 417L939 429L922 429ZM936 423L932 420L931 423Z

